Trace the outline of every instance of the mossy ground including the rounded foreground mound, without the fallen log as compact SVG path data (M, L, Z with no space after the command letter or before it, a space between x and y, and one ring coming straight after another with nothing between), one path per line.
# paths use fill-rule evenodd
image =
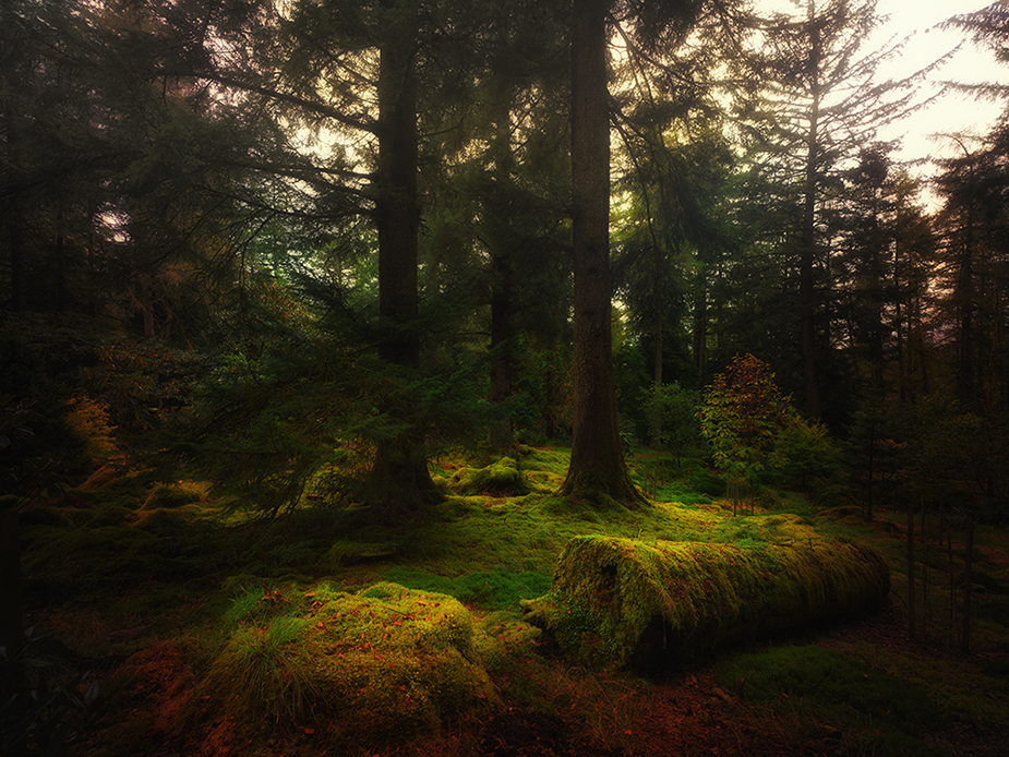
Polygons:
M950 575L961 588L961 531L916 548L933 584L922 596L918 573L927 620L911 639L902 514L866 522L768 489L753 515L733 517L702 461L670 458L656 476L650 455L633 458L633 478L653 506L601 512L553 496L565 449L490 462L481 473L443 456L432 474L451 495L395 520L310 491L264 521L248 493L111 468L25 512L28 625L64 642L101 692L73 750L1005 754L1004 530L975 534L963 653L948 590ZM892 590L867 620L743 634L651 677L606 672L557 654L521 616L520 600L545 594L565 546L585 537L750 551L840 539L881 554Z

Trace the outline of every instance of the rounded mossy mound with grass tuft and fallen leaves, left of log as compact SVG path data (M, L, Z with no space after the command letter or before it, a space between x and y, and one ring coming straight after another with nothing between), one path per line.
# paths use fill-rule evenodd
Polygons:
M268 622L241 623L213 662L206 692L224 693L241 722L368 745L434 733L497 702L472 618L452 597L389 582L310 596Z

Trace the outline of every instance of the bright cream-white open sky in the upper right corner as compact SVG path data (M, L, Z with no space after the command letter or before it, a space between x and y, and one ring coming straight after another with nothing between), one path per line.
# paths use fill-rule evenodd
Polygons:
M959 13L970 13L989 5L994 0L878 0L876 10L889 16L887 23L869 37L863 50L870 52L881 48L891 37L902 39L913 35L903 53L880 67L880 77L900 79L921 70L932 61L963 43L961 49L946 65L932 72L922 87L923 99L933 94L944 81L962 83L1000 82L1009 84L1009 65L1000 64L995 55L965 40L957 31L934 28L942 20ZM1002 0L1009 2L1009 0ZM805 3L802 3L805 5ZM758 0L765 10L795 12L794 0ZM880 132L884 140L900 139L898 160L936 158L954 155L960 147L949 139L936 139L934 134L986 133L1004 110L1001 103L985 103L962 95L947 95L910 118L888 127ZM934 166L924 165L920 171L929 175Z

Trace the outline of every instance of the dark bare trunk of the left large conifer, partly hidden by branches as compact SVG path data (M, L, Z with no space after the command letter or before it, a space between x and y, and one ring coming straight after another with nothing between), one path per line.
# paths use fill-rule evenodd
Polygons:
M389 23L379 51L379 314L385 329L380 355L389 363L416 369L417 336L417 44L413 0L386 0ZM393 414L409 408L391 408ZM411 509L441 498L424 452L423 431L411 429L380 442L372 467L371 498Z

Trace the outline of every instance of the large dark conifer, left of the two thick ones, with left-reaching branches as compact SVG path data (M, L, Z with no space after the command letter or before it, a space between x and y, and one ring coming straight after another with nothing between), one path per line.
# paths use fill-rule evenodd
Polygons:
M368 335L391 374L409 385L420 369L423 327L418 121L436 71L425 63L452 24L435 17L443 8L416 0L259 2L237 19L225 10L190 0L166 11L179 49L195 51L166 60L160 74L223 87L244 109L271 115L277 142L245 166L277 179L277 190L261 203L301 225L313 244L344 249L339 238L348 219L371 221L377 323ZM307 148L305 135L332 147ZM372 440L368 498L399 509L440 498L427 468L424 430L409 420L411 398L400 388L376 410L389 422Z

